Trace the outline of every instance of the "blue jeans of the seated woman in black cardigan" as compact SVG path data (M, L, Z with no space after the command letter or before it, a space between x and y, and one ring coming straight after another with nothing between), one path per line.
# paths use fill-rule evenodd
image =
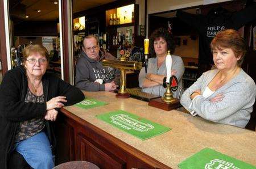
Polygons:
M23 155L32 168L53 168L52 150L46 133L40 132L15 144L16 151Z

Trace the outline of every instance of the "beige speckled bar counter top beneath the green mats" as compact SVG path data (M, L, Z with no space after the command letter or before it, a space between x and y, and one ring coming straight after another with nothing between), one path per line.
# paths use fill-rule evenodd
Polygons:
M178 168L180 162L206 147L256 166L256 132L217 124L177 110L163 111L133 98L115 98L113 92L84 94L109 104L92 109L81 109L74 105L64 109L171 168ZM172 129L142 141L95 117L118 109Z

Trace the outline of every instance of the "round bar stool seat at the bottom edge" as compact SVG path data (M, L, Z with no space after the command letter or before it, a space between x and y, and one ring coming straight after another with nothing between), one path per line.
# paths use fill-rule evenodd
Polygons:
M72 161L67 163L62 163L55 166L53 169L100 169L93 163L86 161Z

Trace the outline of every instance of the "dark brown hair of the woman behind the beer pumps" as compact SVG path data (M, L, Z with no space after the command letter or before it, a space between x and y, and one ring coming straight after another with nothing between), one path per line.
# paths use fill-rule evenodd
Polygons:
M151 57L155 57L155 49L154 49L154 41L162 37L167 42L167 50L170 50L170 53L174 53L175 50L175 41L174 36L172 36L167 29L159 28L156 29L150 36L150 55Z

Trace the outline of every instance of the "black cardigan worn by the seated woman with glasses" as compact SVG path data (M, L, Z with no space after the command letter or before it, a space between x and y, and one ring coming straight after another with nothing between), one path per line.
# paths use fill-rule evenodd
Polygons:
M52 75L44 74L42 82L44 100L46 100L46 102L56 96L66 96L68 102L64 104L72 105L85 98L79 88ZM22 66L9 70L3 77L3 81L0 85L1 168L7 168L7 160L13 148L15 133L16 130L18 130L19 122L46 115L46 102L24 102L27 88L27 76ZM52 125L51 121L46 121L45 131L51 145L55 147L56 140Z

